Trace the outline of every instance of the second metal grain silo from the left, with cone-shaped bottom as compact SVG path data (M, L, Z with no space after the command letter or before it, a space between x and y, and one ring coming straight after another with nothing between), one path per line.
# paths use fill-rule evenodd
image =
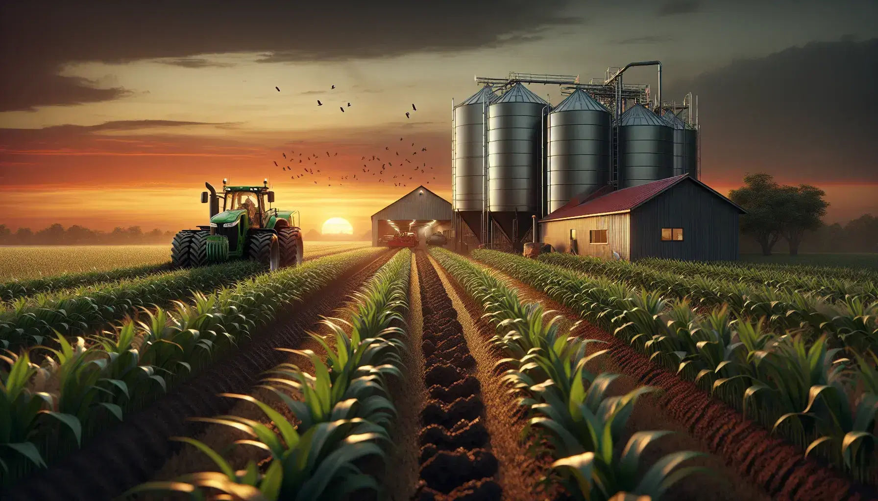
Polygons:
M488 107L488 210L513 247L541 216L543 119L549 104L516 83Z

